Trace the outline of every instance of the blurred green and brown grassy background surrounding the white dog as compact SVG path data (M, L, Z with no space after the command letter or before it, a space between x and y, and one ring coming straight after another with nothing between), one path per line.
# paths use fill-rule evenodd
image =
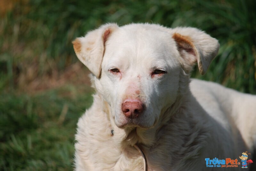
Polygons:
M220 52L192 77L256 94L255 9L255 0L1 0L0 170L73 168L93 90L71 41L106 22L200 28Z

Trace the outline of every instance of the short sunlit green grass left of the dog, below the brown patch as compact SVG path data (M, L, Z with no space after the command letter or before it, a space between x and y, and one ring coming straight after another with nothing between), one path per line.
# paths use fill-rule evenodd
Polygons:
M0 95L0 170L72 169L76 122L92 103L90 88L74 88Z

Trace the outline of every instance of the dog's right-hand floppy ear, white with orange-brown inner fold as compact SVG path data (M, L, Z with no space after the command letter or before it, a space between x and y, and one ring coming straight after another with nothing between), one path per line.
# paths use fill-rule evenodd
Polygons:
M199 71L204 75L219 51L218 40L191 27L172 29L172 38L176 41L180 56L183 58L184 70L191 71L197 61Z

